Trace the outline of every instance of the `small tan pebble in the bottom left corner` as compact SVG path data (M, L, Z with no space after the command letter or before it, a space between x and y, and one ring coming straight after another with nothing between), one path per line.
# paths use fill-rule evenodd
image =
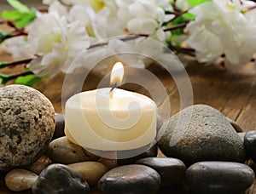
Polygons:
M5 185L11 191L24 191L31 189L38 175L25 169L13 169L5 176Z

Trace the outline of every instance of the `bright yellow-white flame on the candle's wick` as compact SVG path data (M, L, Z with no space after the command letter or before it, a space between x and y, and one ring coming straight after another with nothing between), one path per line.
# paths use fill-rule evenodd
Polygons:
M110 84L113 87L117 87L122 83L124 77L124 66L121 62L117 62L113 65L110 77Z

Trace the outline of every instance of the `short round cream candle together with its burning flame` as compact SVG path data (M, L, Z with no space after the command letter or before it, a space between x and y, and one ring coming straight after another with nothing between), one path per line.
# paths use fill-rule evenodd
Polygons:
M113 66L111 83L121 83L124 68ZM65 134L73 143L102 151L123 151L150 144L156 135L154 101L119 88L75 94L66 103Z

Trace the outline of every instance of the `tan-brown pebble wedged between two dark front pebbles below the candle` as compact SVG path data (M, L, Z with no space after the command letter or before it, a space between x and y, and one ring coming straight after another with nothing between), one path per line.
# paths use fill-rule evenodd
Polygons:
M84 177L89 185L96 185L109 168L98 162L72 163L67 165Z

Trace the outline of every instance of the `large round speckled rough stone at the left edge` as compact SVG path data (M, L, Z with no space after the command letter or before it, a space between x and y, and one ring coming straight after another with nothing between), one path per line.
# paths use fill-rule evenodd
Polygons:
M0 170L26 166L47 149L55 130L55 110L38 90L0 88Z

